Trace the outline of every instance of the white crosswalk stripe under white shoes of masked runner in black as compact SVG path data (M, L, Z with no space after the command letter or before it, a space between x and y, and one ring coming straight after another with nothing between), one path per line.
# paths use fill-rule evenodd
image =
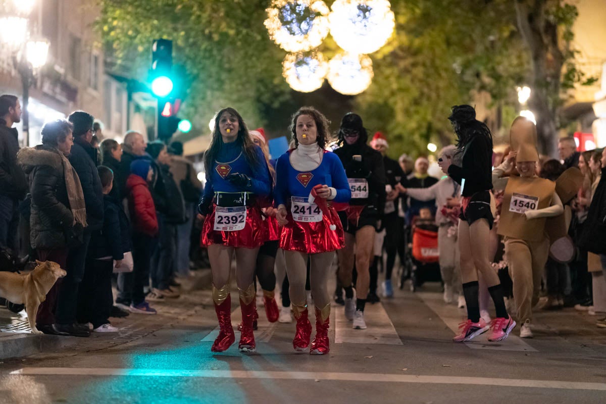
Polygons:
M402 340L381 303L366 305L364 318L367 329L351 328L351 322L345 318L343 306L333 304L331 311L336 324L335 343L402 345Z

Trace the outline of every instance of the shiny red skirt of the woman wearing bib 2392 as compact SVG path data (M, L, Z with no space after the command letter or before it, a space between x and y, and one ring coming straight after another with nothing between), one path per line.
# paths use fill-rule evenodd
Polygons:
M244 228L238 231L217 231L215 227L215 208L213 207L204 219L200 245L221 244L235 248L258 248L267 241L267 227L261 216L261 208L256 205L246 208Z

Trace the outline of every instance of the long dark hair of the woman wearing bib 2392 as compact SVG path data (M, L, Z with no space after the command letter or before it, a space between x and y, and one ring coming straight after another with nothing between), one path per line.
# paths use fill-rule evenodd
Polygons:
M221 151L221 148L224 145L221 130L219 130L219 120L224 112L230 113L238 118L238 137L236 137L236 143L242 147L242 153L244 153L248 165L255 171L260 163L255 153L255 144L250 138L250 134L248 134L248 128L246 127L242 116L234 108L228 107L223 108L215 114L215 128L213 128L212 139L210 140L208 150L204 153L204 168L207 174L212 170L213 162L215 162L219 151Z

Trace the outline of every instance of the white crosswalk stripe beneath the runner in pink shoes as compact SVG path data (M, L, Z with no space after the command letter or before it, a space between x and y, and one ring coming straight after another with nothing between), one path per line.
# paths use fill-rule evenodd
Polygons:
M461 313L458 308L453 305L445 305L441 296L436 293L429 292L417 292L416 296L420 297L423 303L427 305L434 313L438 314L440 319L455 333L459 333L459 323L462 321ZM501 342L488 342L487 335L485 333L482 336L476 337L473 341L465 342L471 349L493 349L497 351L527 351L527 352L538 352L528 343L524 342L520 337L513 335L518 330L519 325L516 325L514 331L509 334L506 340ZM490 332L490 331L489 331Z

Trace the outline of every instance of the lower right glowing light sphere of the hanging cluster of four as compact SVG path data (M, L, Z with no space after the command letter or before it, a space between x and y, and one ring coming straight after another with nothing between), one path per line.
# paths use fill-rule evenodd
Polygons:
M342 53L328 62L328 82L341 94L362 93L373 81L373 61L366 55Z

